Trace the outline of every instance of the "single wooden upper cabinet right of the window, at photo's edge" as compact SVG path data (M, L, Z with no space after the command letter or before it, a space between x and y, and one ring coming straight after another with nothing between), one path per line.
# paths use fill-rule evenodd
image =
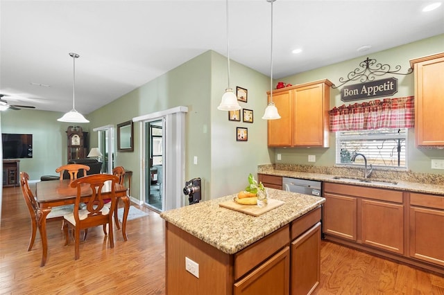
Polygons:
M444 145L444 53L410 60L415 71L417 146Z

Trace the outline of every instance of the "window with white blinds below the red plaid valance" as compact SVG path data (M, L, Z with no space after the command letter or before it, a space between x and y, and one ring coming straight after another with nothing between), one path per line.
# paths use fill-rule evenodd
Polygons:
M407 168L407 128L336 132L336 164L364 166L364 154L373 167Z

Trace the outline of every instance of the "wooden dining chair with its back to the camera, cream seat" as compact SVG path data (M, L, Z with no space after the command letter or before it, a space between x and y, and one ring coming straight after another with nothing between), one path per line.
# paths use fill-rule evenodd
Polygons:
M109 183L107 183L107 181ZM69 228L74 233L75 255L77 260L80 257L80 231L89 227L108 224L108 239L110 240L110 248L114 248L114 236L112 233L112 213L116 204L115 184L119 183L119 177L108 174L96 174L80 177L71 183L71 187L77 188L76 203L74 211L65 215L63 229L65 231L65 245L69 244ZM88 184L89 188L82 186ZM102 195L103 186L110 185L111 193ZM91 191L91 197L86 203L85 209L79 209L80 197L85 195L85 190ZM103 199L110 198L110 208L105 206Z

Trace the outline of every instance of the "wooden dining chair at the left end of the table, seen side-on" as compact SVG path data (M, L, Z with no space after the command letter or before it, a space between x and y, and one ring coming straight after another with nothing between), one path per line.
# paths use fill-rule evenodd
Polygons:
M33 249L35 234L37 233L37 216L41 214L37 199L33 195L33 191L28 184L29 175L26 172L20 172L20 184L22 186L22 194L28 207L29 215L31 215L31 238L29 239L28 251ZM50 208L51 212L46 215L46 221L62 220L63 215L72 212L73 205L57 206Z

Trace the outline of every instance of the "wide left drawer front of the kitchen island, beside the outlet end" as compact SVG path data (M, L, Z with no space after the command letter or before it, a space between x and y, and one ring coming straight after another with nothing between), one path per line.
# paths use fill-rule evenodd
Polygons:
M290 226L287 224L278 231L267 235L234 254L234 280L238 280L248 271L259 265L266 258L282 249L290 242Z

